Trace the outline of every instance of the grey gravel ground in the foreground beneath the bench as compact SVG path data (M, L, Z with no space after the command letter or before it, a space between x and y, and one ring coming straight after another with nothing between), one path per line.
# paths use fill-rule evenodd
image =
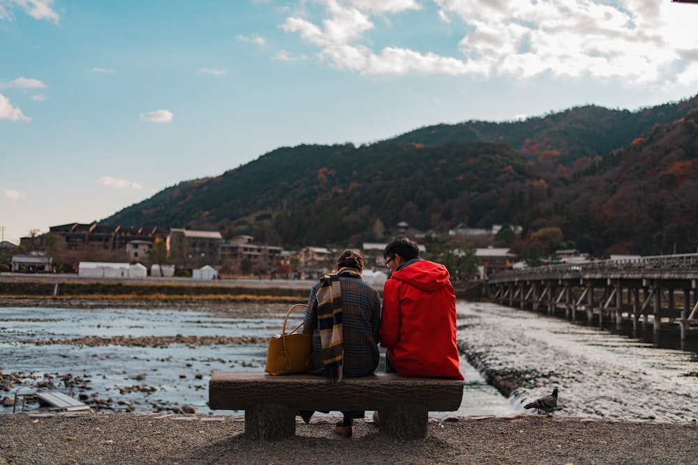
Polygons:
M297 422L297 436L253 442L242 416L145 413L0 415L0 464L693 464L695 422L513 414L431 419L426 439L394 441L371 420Z

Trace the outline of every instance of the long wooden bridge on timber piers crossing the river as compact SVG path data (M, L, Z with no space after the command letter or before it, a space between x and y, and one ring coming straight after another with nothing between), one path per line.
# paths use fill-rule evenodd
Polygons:
M565 312L572 320L586 312L599 326L614 317L618 324L632 319L633 328L651 319L655 331L678 322L685 339L698 324L697 284L698 254L680 254L511 270L489 275L484 293L501 305Z

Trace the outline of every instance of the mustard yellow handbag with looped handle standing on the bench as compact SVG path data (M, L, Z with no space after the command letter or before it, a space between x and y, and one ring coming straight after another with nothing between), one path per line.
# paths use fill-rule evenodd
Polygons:
M269 337L267 367L264 370L269 374L305 373L310 370L313 335L311 333L296 333L303 326L303 323L286 334L286 321L295 307L308 307L308 305L304 303L292 305L283 319L281 334Z

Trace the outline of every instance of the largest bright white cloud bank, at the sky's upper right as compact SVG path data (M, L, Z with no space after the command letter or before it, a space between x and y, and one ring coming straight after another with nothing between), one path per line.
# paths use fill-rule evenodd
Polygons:
M393 32L389 21L374 23L373 15L419 10L416 0L315 0L324 6L322 17L311 18L301 9L280 27L317 46L329 66L360 74L549 75L617 79L627 85L698 82L698 58L689 53L689 44L698 43L695 16L669 1L433 1L438 17L425 15L424 20L448 22L451 31L460 25L459 54L372 46L374 35L368 31ZM292 51L282 51L277 58L290 56Z

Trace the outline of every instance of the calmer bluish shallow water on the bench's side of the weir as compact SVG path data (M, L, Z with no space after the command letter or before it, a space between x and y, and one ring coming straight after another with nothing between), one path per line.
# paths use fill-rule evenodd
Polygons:
M266 340L279 333L287 307L240 304L225 312L171 309L66 309L43 307L0 308L0 371L24 373L24 383L5 395L43 379L52 379L56 388L79 398L111 399L110 409L149 412L168 406L191 405L209 413L208 383L218 370L261 371L267 357L266 344L207 344L188 346L84 346L72 344L25 344L21 341L60 341L82 337L165 337L165 336L255 336ZM302 312L291 314L288 326L302 321ZM154 341L154 345L157 345ZM384 370L384 365L378 367ZM465 360L466 377L459 416L510 413L512 404ZM48 376L45 378L45 374ZM66 387L61 376L72 374L77 386ZM34 376L35 379L31 379ZM11 412L12 406L0 407ZM233 413L221 412L216 413ZM449 413L433 413L443 416Z

